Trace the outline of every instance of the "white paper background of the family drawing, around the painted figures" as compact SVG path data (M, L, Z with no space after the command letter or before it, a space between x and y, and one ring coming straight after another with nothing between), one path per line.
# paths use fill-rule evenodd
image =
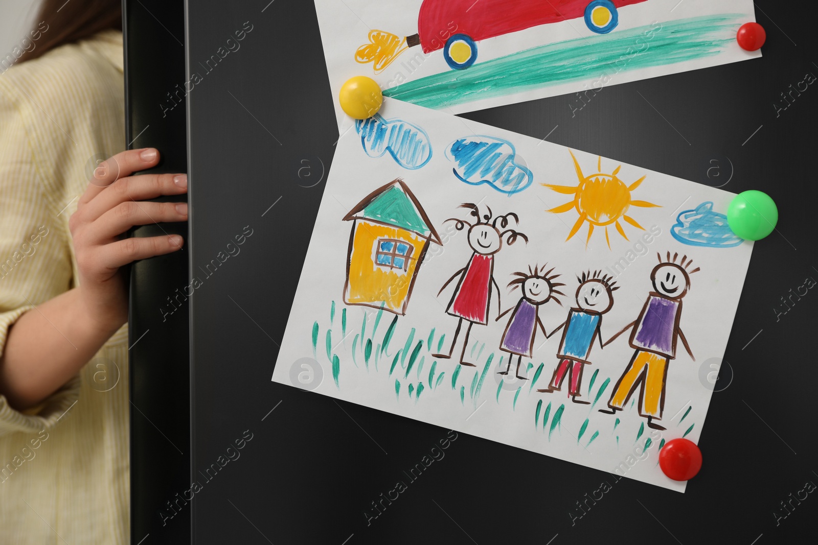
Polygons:
M371 140L373 134L383 134L384 140ZM481 145L495 145L497 154L483 161L476 161L476 155L471 160L464 155ZM576 195L569 192L572 186L580 185L578 168L587 181L578 205L573 206L568 203ZM403 185L389 185L397 179ZM416 199L410 206L416 204L415 212L407 212L411 199L403 198L404 187ZM375 203L379 188L400 194L390 194L392 205ZM367 195L373 192L369 203ZM388 99L380 118L360 123L338 142L272 380L683 491L685 483L672 481L660 471L657 453L663 440L686 435L698 442L714 369L718 369L730 337L753 249L753 243L737 239L724 221L733 196ZM522 358L521 373L528 380L515 377L516 364L511 365L510 374L498 374L509 360L510 353L500 350L501 335L514 312L495 320L497 290L490 296L488 324L474 324L465 347L465 360L476 367L458 363L459 349L452 359L433 356L448 351L458 324L456 316L447 314L458 280L439 296L438 290L470 262L474 253L468 226L457 230L456 221L447 221L476 221L470 208L458 208L462 203L476 203L481 216L490 208L492 221L514 212L519 223L508 216L506 227L502 221L497 226L528 237L528 243L518 237L509 244L507 233L500 251L494 254L492 275L499 285L501 310L513 309L520 300L521 290L507 287L511 280L521 278L515 271L528 275L529 268L537 267L541 272L553 268L550 275L560 274L551 282L565 284L555 287L564 293L557 295L562 306L553 300L537 306L548 333L578 306L574 296L580 284L578 276L583 273L593 276L600 271L597 276L611 277L609 283L615 282L613 307L602 315L600 328L607 341L637 319L654 291L650 279L654 267L667 257L683 264L690 290L681 298L678 325L695 361L685 351L681 337L677 338L675 359L667 364L662 419L654 420L666 431L649 428L647 419L640 416L638 387L622 411L599 412L608 409L614 385L636 352L629 344L629 331L604 349L597 339L586 356L591 363L584 364L578 400L593 404L573 402L569 377L564 378L561 391L537 391L548 386L560 363L556 354L562 330L547 342L542 331L536 331L532 357ZM546 212L555 208L558 212ZM589 223L578 221L579 210L587 212L587 217L596 217L598 224L618 218L619 227L616 221L610 223L606 239L605 226L598 225L589 238ZM406 229L389 228L384 223ZM575 226L577 230L569 238ZM491 229L487 226L486 230ZM388 235L384 235L386 231ZM398 242L380 247L386 239ZM407 248L398 248L398 243L412 248L407 254ZM421 252L424 246L425 252ZM351 248L358 252L352 258ZM394 261L404 254L415 266L422 259L421 266L413 269L411 262ZM691 259L692 264L688 262ZM378 264L379 260L391 261L394 269L387 266L389 263ZM353 283L345 288L348 261L353 262ZM682 269L670 270L679 275L679 282ZM375 276L371 275L391 270L397 270L397 276L378 277L387 279L381 287L384 291L378 293L390 299L396 312L405 310L405 315L344 302L366 302L366 290L371 289L371 282L377 285L379 281L372 280ZM665 270L661 275L659 280L672 284L669 277L664 278ZM389 278L400 280L392 282ZM370 284L362 288L360 279ZM407 282L411 284L410 297L401 298ZM667 288L672 288L670 284ZM529 287L529 291L534 290ZM391 335L387 335L396 317ZM464 321L460 339L468 324ZM639 344L639 335L635 342Z

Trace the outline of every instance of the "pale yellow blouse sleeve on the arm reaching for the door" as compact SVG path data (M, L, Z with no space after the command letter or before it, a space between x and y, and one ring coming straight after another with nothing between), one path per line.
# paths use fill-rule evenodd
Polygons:
M36 107L0 86L0 355L16 320L67 291L73 276L67 218L54 209L62 195L46 194L26 130ZM26 411L0 395L0 436L56 426L79 399L79 387L78 374Z

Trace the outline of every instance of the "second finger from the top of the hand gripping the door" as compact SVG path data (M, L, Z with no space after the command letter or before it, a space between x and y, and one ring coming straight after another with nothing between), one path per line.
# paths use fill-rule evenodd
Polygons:
M80 213L84 221L94 221L119 203L155 199L162 195L178 195L186 191L186 174L128 176L110 184L106 190L85 204Z

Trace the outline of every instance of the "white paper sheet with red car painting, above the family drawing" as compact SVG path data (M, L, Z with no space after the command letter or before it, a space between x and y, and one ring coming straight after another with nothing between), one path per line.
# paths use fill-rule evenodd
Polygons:
M617 25L607 34L597 34L586 24L582 11L594 3L590 0L315 3L342 130L348 118L338 105L339 90L357 75L374 78L387 96L452 114L582 92L582 97L566 100L566 109L573 110L609 85L761 56L761 51L744 51L735 40L739 26L755 20L751 0L645 0L624 7L616 7L622 0L614 0ZM550 18L556 22L537 25L536 17L520 15L527 5L534 13L545 13L545 19L550 11L560 15ZM442 13L424 15L435 9ZM492 25L509 13L510 20ZM447 23L425 24L421 31L421 16ZM534 26L514 30L525 25ZM420 45L407 47L404 38L419 31ZM497 32L505 34L476 40L474 65L466 69L450 68L443 49L425 51L454 34ZM369 47L358 52L366 44ZM394 56L391 50L402 52ZM356 56L371 60L358 62Z

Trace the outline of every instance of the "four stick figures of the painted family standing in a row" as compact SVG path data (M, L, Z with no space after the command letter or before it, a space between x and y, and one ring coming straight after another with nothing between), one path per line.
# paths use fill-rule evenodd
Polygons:
M667 362L676 358L678 338L681 338L690 358L695 360L679 325L681 299L690 289L690 275L699 270L699 268L687 270L693 262L692 259L688 261L687 256L683 256L677 263L678 253L671 257L670 252L667 252L666 259L657 253L658 265L650 273L654 289L649 293L639 316L605 342L601 333L602 318L613 308L613 292L619 287L613 282L612 276L603 275L600 270L583 272L581 276L577 276L579 285L574 296L577 306L569 310L562 324L551 333L547 333L538 315L539 308L551 301L562 306L562 302L556 296L565 296L557 288L566 284L555 282L560 275L551 274L555 267L546 270L546 266L535 265L533 269L528 266L527 273L513 273L515 278L510 281L508 287L511 291L519 288L520 297L515 306L501 311L500 288L493 276L494 257L500 252L504 241L513 244L517 239L524 239L528 243L528 237L514 229L506 229L510 219L519 223L519 218L514 212L494 217L492 220L492 211L488 207L488 213L482 217L474 203L464 203L459 208L469 209L474 220L450 218L447 221L455 221L457 230L469 226L468 242L474 252L466 266L452 275L438 292L440 295L454 279L458 279L446 310L447 314L458 318L454 338L448 352L434 354L434 357L443 359L452 357L465 321L467 325L461 337L459 363L474 366L464 360L465 348L468 346L472 326L488 324L492 289L497 289L496 321L510 313L500 342L500 350L508 352L510 357L506 370L500 373L504 375L509 373L512 360L517 356L516 377L527 379L520 375L520 365L524 357L531 358L533 355L537 328L542 331L546 340L562 329L560 346L556 352L558 363L551 382L548 387L537 391L543 393L561 391L565 378L569 377L568 389L573 402L587 404L589 402L580 399L582 397L580 387L582 369L585 365L591 364L589 359L591 348L598 340L602 350L630 329L628 343L635 352L613 387L613 393L608 401L609 409L600 409L600 412L613 414L622 410L636 388L640 387L638 397L640 415L647 418L649 427L664 429L654 420L662 418Z

